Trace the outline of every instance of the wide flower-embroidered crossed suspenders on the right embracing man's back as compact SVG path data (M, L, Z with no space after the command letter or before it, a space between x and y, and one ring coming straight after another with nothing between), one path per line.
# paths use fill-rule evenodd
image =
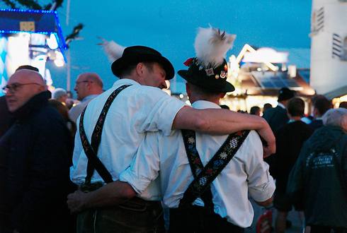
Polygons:
M242 143L244 143L248 134L249 131L239 131L230 134L217 153L215 153L207 165L203 167L203 162L201 162L198 150L196 150L195 132L182 130L190 169L195 179L190 183L188 189L183 194L180 207L183 205L190 205L196 198L203 196L203 193L210 188L212 181L222 172L222 169L227 166L229 161L232 160L232 157L234 157L237 150L239 150Z

